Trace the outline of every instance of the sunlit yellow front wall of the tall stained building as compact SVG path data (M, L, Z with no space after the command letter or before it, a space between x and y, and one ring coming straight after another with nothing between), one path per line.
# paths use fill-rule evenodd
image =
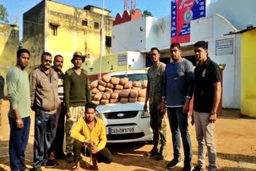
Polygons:
M73 66L70 60L74 51L80 51L90 58L100 57L101 14L58 2L46 1L46 6L46 51L53 56L61 54L64 57L63 71ZM86 20L88 26L82 26L82 20ZM113 20L110 16L104 16L105 36L111 36ZM94 22L98 22L98 29L94 28ZM51 23L59 25L57 36L52 35ZM105 38L103 42L103 55L108 55L110 47L105 46Z

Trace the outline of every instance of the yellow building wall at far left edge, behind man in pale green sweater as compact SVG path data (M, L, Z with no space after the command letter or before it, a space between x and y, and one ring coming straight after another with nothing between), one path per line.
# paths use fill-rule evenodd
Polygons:
M0 23L0 74L6 80L6 74L16 64L18 50L18 26ZM7 86L5 85L5 95Z

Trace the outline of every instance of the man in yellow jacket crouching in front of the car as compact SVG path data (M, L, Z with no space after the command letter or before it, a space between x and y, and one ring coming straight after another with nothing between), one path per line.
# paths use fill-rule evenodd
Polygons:
M79 159L83 153L86 157L93 158L93 166L97 167L97 162L110 164L112 162L112 154L106 149L106 126L102 119L96 117L94 103L85 105L85 117L78 120L78 124L71 129L70 136L74 138L74 162L76 167L74 170L80 170Z

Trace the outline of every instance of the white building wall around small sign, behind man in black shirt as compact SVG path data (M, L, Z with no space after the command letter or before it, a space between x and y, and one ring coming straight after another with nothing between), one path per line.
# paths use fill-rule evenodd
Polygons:
M224 35L234 31L234 27L230 26L225 19L214 15L209 18L201 18L191 22L191 43L198 41L208 42L208 54L210 58L218 64L226 64L223 71L222 85L222 106L224 108L240 108L240 73L239 54L237 52L240 46L237 46L239 39L233 35ZM216 55L215 42L216 40L233 38L233 54Z

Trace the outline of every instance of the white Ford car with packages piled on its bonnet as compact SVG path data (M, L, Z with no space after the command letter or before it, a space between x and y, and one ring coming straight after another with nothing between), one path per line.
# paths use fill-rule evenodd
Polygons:
M110 73L111 77L129 78L130 81L147 79L146 70L128 70ZM99 117L106 123L108 143L152 141L150 115L143 112L144 102L98 105Z

